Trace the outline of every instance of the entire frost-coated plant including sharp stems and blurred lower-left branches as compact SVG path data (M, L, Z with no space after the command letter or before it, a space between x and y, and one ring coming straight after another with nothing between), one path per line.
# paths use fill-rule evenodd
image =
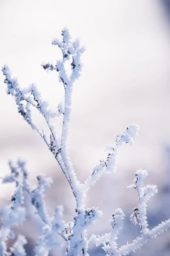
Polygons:
M1 228L0 228L0 256L25 256L26 252L24 245L26 238L19 235L13 246L7 248L6 242L8 239L14 239L14 231L12 228L26 221L26 209L23 206L23 191L30 195L30 201L35 207L37 213L42 219L44 226L42 228L42 236L37 241L34 249L36 256L48 256L53 248L61 247L61 238L66 244L65 256L88 256L88 244L93 242L96 246L103 245L102 249L107 256L122 256L130 252L135 252L148 240L156 238L158 234L163 233L170 227L170 219L162 222L158 226L149 230L147 224L147 201L157 193L156 186L144 186L144 179L147 176L147 171L139 169L136 171L134 184L130 188L136 189L139 198L139 205L133 209L133 214L130 220L134 224L139 224L141 227L141 236L128 243L118 247L117 238L119 230L122 229L123 219L125 217L123 211L118 208L111 215L110 224L111 232L105 233L102 236L92 235L90 239L87 236L87 228L94 224L96 218L102 215L99 209L94 207L86 208L84 201L86 192L91 189L102 173L114 173L116 171L116 157L119 154L120 147L124 144L133 145L133 139L138 136L139 126L132 124L126 128L126 131L116 135L114 145L107 147L108 156L104 160L99 160L99 163L91 171L91 175L85 180L85 183L80 183L77 180L76 173L68 156L67 142L69 134L69 123L71 119L71 97L74 81L79 79L82 71L81 55L85 51L81 47L79 41L72 41L68 29L62 31L62 41L55 39L52 44L57 45L62 51L62 60L56 62L55 65L50 63L42 64L45 70L54 70L58 73L59 82L62 83L65 91L64 102L59 103L56 111L49 108L48 102L45 102L35 84L31 84L27 89L19 87L17 79L11 77L8 66L2 68L7 84L7 93L11 94L18 107L18 112L28 122L31 128L42 137L48 149L52 152L62 172L67 179L71 190L76 200L75 217L73 221L65 223L62 220L62 206L55 208L52 216L48 215L44 195L50 187L52 180L46 178L45 175L37 177L38 186L32 188L28 182L28 173L26 171L25 162L18 160L16 164L10 162L9 166L11 174L2 178L2 183L15 183L16 189L11 197L11 204L3 207L1 213ZM71 75L68 76L65 70L65 63L71 63ZM31 119L31 110L36 108L44 117L50 135L38 128ZM54 118L62 115L62 133L59 136L54 128Z

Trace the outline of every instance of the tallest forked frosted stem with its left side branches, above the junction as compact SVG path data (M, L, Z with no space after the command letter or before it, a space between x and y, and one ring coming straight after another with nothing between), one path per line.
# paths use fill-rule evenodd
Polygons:
M63 29L62 31L62 42L59 40L54 40L52 42L54 45L58 45L62 50L62 60L57 61L57 64L54 68L51 64L42 64L42 67L45 70L56 70L59 74L59 82L62 82L65 89L65 103L64 106L61 103L58 105L57 111L52 111L48 107L48 102L42 100L42 97L37 90L35 84L31 84L28 89L21 90L18 84L17 79L11 78L11 73L8 66L2 68L3 74L6 76L4 82L7 84L7 93L14 96L15 101L18 106L18 112L23 116L23 118L31 125L33 130L36 130L38 134L43 138L45 143L48 145L50 151L54 154L59 166L62 169L66 179L68 180L69 185L73 191L74 197L77 200L77 195L79 191L79 182L77 181L76 174L74 172L70 158L68 157L67 152L67 141L68 141L68 130L69 122L71 116L71 96L72 88L74 81L79 78L82 71L82 64L80 61L82 53L85 51L84 47L80 47L79 40L71 41L68 29ZM71 62L72 73L68 77L65 71L65 61ZM24 105L24 103L26 103ZM50 141L48 142L47 137L44 131L39 131L37 125L31 119L31 109L30 105L34 106L45 118L48 128L50 130ZM51 120L63 114L62 122L62 136L61 140L57 136L57 132L54 129L54 125ZM77 202L78 205L78 202Z

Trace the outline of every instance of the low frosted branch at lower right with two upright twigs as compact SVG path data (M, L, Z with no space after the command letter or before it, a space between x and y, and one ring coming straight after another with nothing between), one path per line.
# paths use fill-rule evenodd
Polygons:
M157 188L155 185L144 186L143 181L147 176L147 171L139 169L135 174L135 183L130 185L130 188L135 188L138 192L139 206L133 209L133 214L130 216L130 220L137 224L137 219L139 220L139 225L141 227L141 237L137 237L133 240L133 243L128 243L122 245L118 248L116 240L119 235L119 230L122 229L122 220L125 215L121 209L117 209L116 212L112 215L110 220L113 230L110 233L105 233L102 236L92 235L89 241L92 241L96 246L103 244L102 249L105 251L106 256L125 256L130 252L136 252L137 249L142 247L143 244L146 244L147 241L156 238L159 234L164 233L170 228L170 219L167 221L161 222L158 226L154 227L152 230L147 228L147 214L146 207L147 201L157 193Z

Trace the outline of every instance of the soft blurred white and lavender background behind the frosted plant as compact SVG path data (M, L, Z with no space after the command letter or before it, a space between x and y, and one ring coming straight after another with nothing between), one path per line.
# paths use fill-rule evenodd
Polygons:
M122 245L140 235L138 225L129 221L138 205L137 194L127 189L136 169L147 169L146 183L158 186L147 207L149 227L170 217L170 0L0 0L0 67L8 64L21 87L36 82L54 109L63 98L62 84L57 73L46 73L41 64L61 58L51 40L61 37L65 26L87 48L82 76L74 84L68 143L79 180L84 182L116 134L133 122L140 125L133 147L121 149L116 174L103 175L86 198L87 207L103 212L89 227L89 236L110 232L109 218L122 208L126 215L118 240ZM36 185L40 172L54 180L45 198L49 213L62 204L64 219L72 221L75 202L65 177L45 143L17 113L3 80L1 72L0 176L9 172L8 160L26 160L32 184ZM34 120L45 126L38 113ZM13 189L0 186L1 205L8 203ZM17 230L28 239L28 255L34 255L30 250L41 226L39 219L33 219ZM57 253L63 255L63 251ZM169 253L170 231L136 252L144 256ZM104 255L93 244L89 254Z

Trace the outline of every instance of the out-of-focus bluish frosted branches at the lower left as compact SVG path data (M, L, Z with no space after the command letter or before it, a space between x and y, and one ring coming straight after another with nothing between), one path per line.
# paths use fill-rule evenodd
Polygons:
M54 214L50 217L45 206L44 195L52 183L51 178L46 178L45 175L39 175L37 176L39 183L37 188L31 188L31 185L28 183L28 173L25 165L26 163L21 160L18 160L16 164L10 162L9 166L11 173L2 178L2 183L14 182L16 184L16 190L11 196L12 203L10 206L1 209L1 220L3 225L0 230L0 256L5 255L4 253L7 250L6 240L14 239L14 232L11 230L11 227L22 224L26 219L25 208L20 207L20 204L23 204L23 191L28 193L30 202L35 207L35 214L38 214L44 222L44 226L42 227L43 234L37 241L35 254L37 256L46 256L52 248L60 247L62 245L59 239L60 237L65 239L62 235L65 230L64 222L61 220L62 207L57 206ZM9 248L11 254L9 253L6 255L26 255L23 247L26 242L25 237L19 235L13 246Z

